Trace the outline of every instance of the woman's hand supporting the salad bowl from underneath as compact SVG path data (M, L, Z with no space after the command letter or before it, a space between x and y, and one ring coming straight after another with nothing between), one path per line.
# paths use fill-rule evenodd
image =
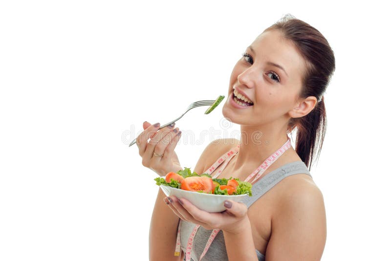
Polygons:
M238 234L248 224L247 206L243 203L226 200L225 211L209 213L200 210L184 198L170 196L165 197L164 201L179 218L199 224L208 230L217 228Z

